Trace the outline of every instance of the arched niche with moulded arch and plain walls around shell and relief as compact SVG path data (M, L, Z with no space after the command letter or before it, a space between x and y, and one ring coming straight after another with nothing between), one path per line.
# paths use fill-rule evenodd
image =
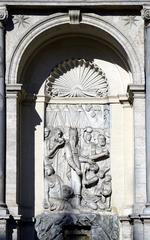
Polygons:
M121 46L124 43L126 49ZM25 90L20 114L20 213L29 216L43 211L43 133L49 102L44 92L45 81L56 65L72 58L97 64L108 79L108 97L94 101L109 104L111 108L112 211L120 215L124 210L131 213L133 119L126 89L133 81L141 81L140 65L130 43L110 24L95 15L83 15L80 25L69 25L65 14L52 16L29 30L19 42L7 72L8 82L21 83ZM82 100L73 99L78 104ZM27 191L32 192L30 197Z

